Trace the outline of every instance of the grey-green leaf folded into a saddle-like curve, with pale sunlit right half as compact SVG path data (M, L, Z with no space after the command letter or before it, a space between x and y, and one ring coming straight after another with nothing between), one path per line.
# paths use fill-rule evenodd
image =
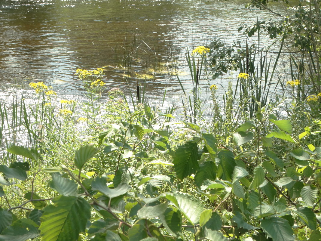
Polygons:
M93 190L98 190L109 198L116 198L118 196L124 195L126 192L131 190L131 186L126 183L119 184L116 188L108 188L106 179L103 177L97 177L92 183L91 188Z

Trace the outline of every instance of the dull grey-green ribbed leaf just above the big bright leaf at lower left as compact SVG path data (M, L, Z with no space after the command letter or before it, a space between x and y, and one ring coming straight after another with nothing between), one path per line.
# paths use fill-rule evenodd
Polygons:
M66 179L58 173L51 174L52 181L49 183L49 186L56 190L59 194L64 196L72 196L77 190L77 183L73 180Z

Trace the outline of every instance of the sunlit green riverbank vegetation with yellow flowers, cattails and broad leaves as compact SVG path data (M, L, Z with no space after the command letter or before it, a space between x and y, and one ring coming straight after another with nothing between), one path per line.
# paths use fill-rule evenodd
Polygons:
M279 43L271 60L259 42L187 51L193 87L177 75L179 112L145 102L138 85L107 89L103 68L75 70L82 103L43 82L30 83L32 103L1 103L0 240L320 240L317 4L240 27ZM218 96L211 80L229 71L236 85Z

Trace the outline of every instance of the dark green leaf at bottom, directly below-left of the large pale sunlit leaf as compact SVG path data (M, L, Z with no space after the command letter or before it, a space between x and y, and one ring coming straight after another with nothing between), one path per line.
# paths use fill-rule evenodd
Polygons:
M167 232L174 236L179 235L182 229L182 215L176 208L168 207L159 218Z

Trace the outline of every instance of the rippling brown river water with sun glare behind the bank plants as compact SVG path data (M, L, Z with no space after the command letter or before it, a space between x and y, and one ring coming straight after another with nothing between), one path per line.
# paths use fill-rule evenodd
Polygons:
M2 92L14 83L28 88L31 81L43 81L60 95L77 95L84 89L76 69L103 67L107 88L128 94L138 81L146 83L146 96L161 98L166 89L176 102L182 92L174 73L191 87L187 48L214 38L244 42L241 24L272 17L244 6L216 0L2 0ZM268 36L261 42L271 43ZM210 84L221 85L218 91L224 93L228 80L223 76Z

